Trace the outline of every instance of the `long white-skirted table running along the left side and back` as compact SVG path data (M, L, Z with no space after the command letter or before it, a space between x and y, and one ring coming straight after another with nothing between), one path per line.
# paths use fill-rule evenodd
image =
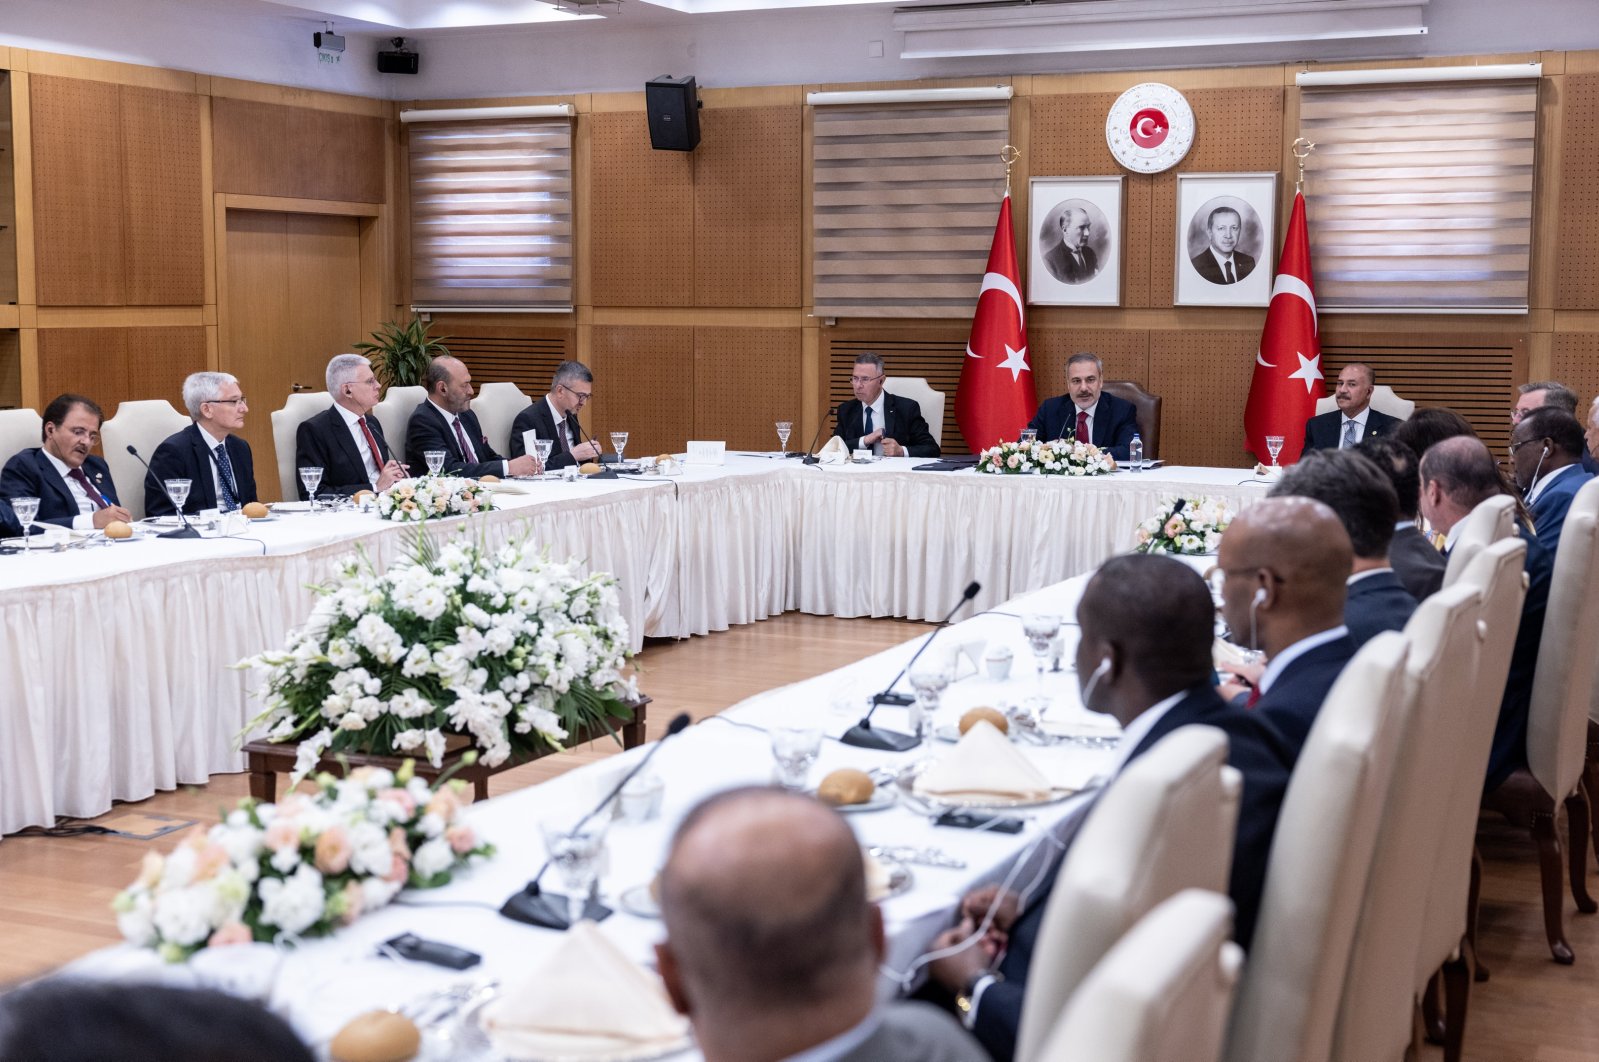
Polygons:
M528 537L617 577L632 645L788 609L935 621L1089 571L1172 494L1263 493L1246 469L1095 478L804 465L729 454L681 475L513 481L496 512L429 521L445 541ZM315 585L363 553L387 568L416 525L273 510L240 536L138 537L0 557L0 835L90 817L245 768L256 681L230 665L283 645Z

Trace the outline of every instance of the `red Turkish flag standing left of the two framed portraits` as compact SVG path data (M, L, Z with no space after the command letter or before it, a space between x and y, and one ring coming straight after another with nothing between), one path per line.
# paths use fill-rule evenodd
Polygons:
M1022 273L1015 267L1011 197L999 203L999 224L988 250L988 272L977 291L972 336L966 341L955 421L974 451L1014 440L1038 411L1033 369L1027 363L1027 315Z

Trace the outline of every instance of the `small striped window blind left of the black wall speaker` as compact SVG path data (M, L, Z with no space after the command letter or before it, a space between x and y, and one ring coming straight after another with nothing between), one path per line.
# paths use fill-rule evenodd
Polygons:
M569 310L569 118L417 122L411 301L417 309Z

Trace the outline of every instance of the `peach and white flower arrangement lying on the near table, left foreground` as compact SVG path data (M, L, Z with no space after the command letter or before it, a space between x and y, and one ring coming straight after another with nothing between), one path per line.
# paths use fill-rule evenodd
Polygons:
M206 947L323 936L494 854L459 820L465 784L430 787L409 760L317 782L275 804L245 800L171 854L147 852L112 902L123 937L181 963Z

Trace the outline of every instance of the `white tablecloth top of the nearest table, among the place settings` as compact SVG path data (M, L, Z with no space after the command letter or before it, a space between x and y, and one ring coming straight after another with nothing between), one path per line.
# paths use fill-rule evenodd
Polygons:
M1017 702L1035 694L1039 678L1017 614L1044 609L1070 619L1076 611L1084 581L1078 577L1025 595L1006 603L1003 613L979 614L942 632L940 648L974 640L1006 645L1015 654L1015 667L1009 680L995 681L963 664L959 678L943 694L943 709L935 718L935 726L956 723L966 709L979 704ZM1068 632L1065 659L1070 665L1075 629L1067 625L1065 630ZM652 945L662 937L662 926L659 920L630 913L622 894L649 883L664 860L676 822L697 801L715 792L771 782L772 758L764 728L807 720L822 725L830 737L843 734L863 709L863 693L886 685L919 645L921 638L915 638L836 672L758 694L662 745L649 768L665 785L660 816L640 824L616 820L609 828L601 899L616 908L616 913L601 923L601 931L635 961L652 964ZM1102 734L1107 725L1115 726L1107 723L1105 717L1087 713L1081 707L1076 675L1070 669L1043 678L1052 699L1047 720L1063 726L1086 723ZM847 702L841 696L844 691L849 693ZM905 709L884 707L875 721L903 729ZM823 741L811 779L814 784L827 771L839 766L900 769L918 760L947 753L951 747L948 742L934 741L905 753L886 753ZM361 1011L403 1004L464 979L496 979L504 987L515 985L560 939L556 931L508 921L497 913L500 902L520 889L544 862L539 819L592 806L644 752L648 747L635 749L542 785L473 806L469 820L480 836L499 848L492 860L459 873L441 889L403 892L398 905L366 915L329 939L289 952L277 976L270 1003L289 1017L307 1040L321 1043ZM1027 752L1035 757L1035 763L1046 768L1051 781L1076 787L1107 769L1115 755L1111 749L1083 745L1027 747ZM902 803L883 811L851 814L847 820L862 844L935 848L966 864L961 868L908 867L910 888L883 900L887 934L884 966L908 974L932 937L948 926L950 912L967 889L1004 878L1017 860L1030 852L1043 859L1049 851L1046 832L1076 814L1084 800L1070 796L1015 812L1025 822L1019 835L935 827L926 816ZM1022 873L1017 881L1028 876L1030 872ZM545 884L552 881L553 876ZM457 974L379 958L376 945L401 932L478 952L483 966ZM197 976L209 976L184 966L166 966L152 952L128 945L96 952L75 963L70 972L165 979L174 984L193 984ZM879 993L894 992L897 992L895 980L884 976L879 980ZM448 1027L432 1033L432 1036L445 1035ZM438 1057L454 1056L446 1051ZM676 1057L697 1056L686 1052Z

